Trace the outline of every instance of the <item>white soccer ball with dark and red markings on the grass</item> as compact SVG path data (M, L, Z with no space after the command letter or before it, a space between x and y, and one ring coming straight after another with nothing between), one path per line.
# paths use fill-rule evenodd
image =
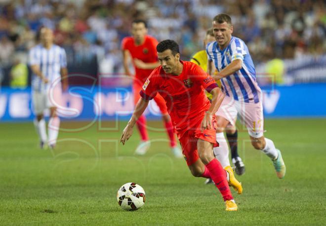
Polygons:
M145 203L145 191L136 183L126 183L118 190L117 200L122 209L137 210Z

